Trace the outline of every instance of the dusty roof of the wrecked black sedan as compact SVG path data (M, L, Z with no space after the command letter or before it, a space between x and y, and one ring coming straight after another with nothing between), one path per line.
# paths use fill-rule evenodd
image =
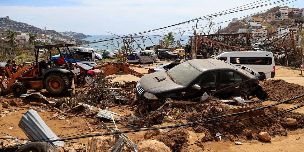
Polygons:
M195 60L188 60L188 63L191 64L193 67L197 68L199 71L206 71L212 69L223 69L223 68L230 68L230 69L237 69L235 66L217 59L195 59Z

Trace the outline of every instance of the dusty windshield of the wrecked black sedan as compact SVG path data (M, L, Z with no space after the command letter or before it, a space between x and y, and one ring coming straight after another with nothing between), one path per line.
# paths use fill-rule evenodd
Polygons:
M201 73L201 71L193 67L188 62L178 64L168 70L168 75L175 81L175 83L184 86L188 85Z

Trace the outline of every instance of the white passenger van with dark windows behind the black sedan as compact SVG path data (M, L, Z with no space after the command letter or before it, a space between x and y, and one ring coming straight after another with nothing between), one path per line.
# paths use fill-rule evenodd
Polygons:
M260 80L275 77L275 60L272 52L264 51L242 51L224 52L216 59L224 60L231 64L245 65L259 72Z

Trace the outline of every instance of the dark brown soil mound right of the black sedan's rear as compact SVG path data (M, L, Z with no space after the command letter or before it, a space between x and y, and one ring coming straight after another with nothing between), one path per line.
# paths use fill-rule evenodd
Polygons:
M282 94L287 93L287 92L297 90L299 88L303 88L301 85L298 85L298 84L295 84L295 83L288 83L288 82L286 82L284 80L280 80L280 79L279 80L260 81L260 85L268 93L270 98L275 97L277 95L282 95ZM272 100L282 101L286 98L292 98L292 97L295 97L295 96L301 95L301 94L304 94L304 89L296 91L296 92L289 93L287 95L279 96L279 97L274 98ZM295 99L294 102L296 104L304 102L304 98L302 97L302 98Z

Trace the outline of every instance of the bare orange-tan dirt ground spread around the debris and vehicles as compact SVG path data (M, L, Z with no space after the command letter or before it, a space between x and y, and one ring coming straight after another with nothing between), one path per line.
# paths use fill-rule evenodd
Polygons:
M161 63L159 63L161 64ZM144 67L157 67L158 65L142 65ZM140 69L140 68L133 68L134 70L141 72L143 74L147 74L147 69ZM116 74L113 74L113 76L118 76L115 78L113 81L117 82L123 82L123 81L138 81L140 78L125 74L123 72L118 72ZM277 80L277 79L282 79L282 80ZM299 71L296 70L290 70L288 68L282 67L280 68L279 66L276 66L276 71L275 71L275 78L271 78L271 80L277 80L275 82L276 86L275 87L264 87L265 90L268 90L269 96L275 96L279 95L288 91L291 91L293 89L298 89L301 88L301 86L304 86L304 78L303 76L299 75ZM288 82L286 83L287 85L289 83L294 83L297 85L292 85L290 87L285 86L287 88L290 88L290 90L282 90L280 86L284 86L285 81ZM264 86L269 86L273 83L274 81L269 81L269 80L264 80L261 81L261 85L266 84ZM272 84L273 85L273 84ZM271 85L271 86L272 86ZM293 87L293 88L292 88ZM29 90L28 93L31 92L36 92L34 90ZM270 93L269 93L270 92ZM48 97L51 97L45 89L41 90L39 93L42 95ZM293 95L298 95L302 94L304 92L298 92L297 94ZM69 95L65 96L69 97ZM278 101L281 101L284 98L290 98L291 96L285 96L281 98L276 98L275 100L272 101L265 101L262 103L262 105L269 105L272 103L276 103ZM0 114L7 110L2 108L3 102L6 101L11 101L15 97L12 94L5 95L0 97ZM62 97L56 97L57 99L60 99ZM287 109L287 108L292 108L295 105L300 105L302 103L302 99L294 101L294 103L288 103L288 104L280 104L277 105L276 107L278 109ZM20 104L10 106L12 115L7 115L7 116L0 116L0 131L3 133L7 133L13 136L21 137L21 138L27 138L26 135L22 132L22 130L19 128L18 124L20 121L20 118L22 115L28 110L28 109L33 109L36 108L36 106L30 105L29 102L36 102L33 99L25 99L21 98L21 101L19 100ZM303 104L303 103L302 103ZM116 112L122 116L129 116L131 113L135 113L132 111L131 107L128 106L121 106L119 108L113 106L110 107L110 111ZM297 112L299 114L304 114L304 108L296 109L294 112ZM109 120L106 119L98 119L94 117L85 117L85 113L83 110L78 109L78 110L72 110L69 112L68 116L66 116L66 119L59 120L59 119L51 119L50 118L55 114L55 112L51 111L50 109L47 109L46 112L38 112L40 117L44 120L44 122L49 126L49 128L59 137L60 136L73 136L73 135L86 135L87 130L88 130L88 125L89 123L92 128L100 127L101 125L101 120L104 121L107 125L111 124ZM120 125L121 126L121 125ZM13 129L9 130L10 127L13 127ZM121 130L128 130L128 128L121 129ZM205 148L204 151L211 151L211 152L216 152L216 151L226 151L226 152L256 152L256 151L261 151L261 152L277 152L277 151L303 151L304 149L304 129L301 128L293 128L293 129L286 129L288 132L288 136L279 136L279 135L274 135L271 137L270 142L264 142L262 140L256 140L256 139L247 139L247 138L239 138L238 141L229 141L229 140L222 140L222 141L207 141L203 143L203 146ZM98 132L105 132L105 130L98 130ZM3 133L0 133L0 137L7 136ZM138 132L138 133L128 133L126 134L129 136L135 143L139 142L140 140L143 139L143 133ZM301 135L299 140L296 140L296 138ZM83 139L77 139L73 140L72 142L81 142L81 143L86 143L88 139L83 138ZM21 142L21 141L20 141ZM236 145L235 142L242 142L244 145Z

